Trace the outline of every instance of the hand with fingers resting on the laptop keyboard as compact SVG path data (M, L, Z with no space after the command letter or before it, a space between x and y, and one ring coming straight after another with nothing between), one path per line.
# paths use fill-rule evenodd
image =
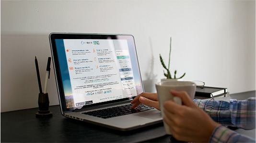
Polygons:
M141 103L156 108L157 110L160 110L159 102L157 93L148 93L148 92L142 92L140 95L135 97L131 103L133 104L131 108L138 107Z

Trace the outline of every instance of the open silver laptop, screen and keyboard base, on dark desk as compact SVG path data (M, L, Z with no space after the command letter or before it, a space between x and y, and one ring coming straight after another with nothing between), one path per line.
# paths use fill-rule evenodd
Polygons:
M163 120L131 100L143 90L134 37L125 34L49 35L62 115L120 131Z

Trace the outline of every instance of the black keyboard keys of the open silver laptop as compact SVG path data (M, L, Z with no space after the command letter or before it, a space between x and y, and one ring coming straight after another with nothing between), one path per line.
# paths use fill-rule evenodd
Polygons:
M132 109L131 106L132 104L127 104L127 105L116 106L116 107L111 107L111 108L106 108L101 110L95 110L91 112L83 112L83 114L91 115L91 116L99 117L103 119L108 119L108 118L113 118L113 117L118 117L118 116L123 116L127 114L154 109L153 107L146 106L144 104L140 104L135 109Z

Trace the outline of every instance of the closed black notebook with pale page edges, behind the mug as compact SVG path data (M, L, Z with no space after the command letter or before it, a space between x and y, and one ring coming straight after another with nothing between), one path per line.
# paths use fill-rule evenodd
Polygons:
M195 96L211 98L225 93L227 93L227 88L205 86L204 88L197 87Z

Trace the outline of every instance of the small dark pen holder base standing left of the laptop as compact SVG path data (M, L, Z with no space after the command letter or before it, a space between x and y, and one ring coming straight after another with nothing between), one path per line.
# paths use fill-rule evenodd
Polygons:
M39 93L38 95L38 106L39 111L35 113L36 117L50 117L52 112L49 110L49 97L48 93Z

